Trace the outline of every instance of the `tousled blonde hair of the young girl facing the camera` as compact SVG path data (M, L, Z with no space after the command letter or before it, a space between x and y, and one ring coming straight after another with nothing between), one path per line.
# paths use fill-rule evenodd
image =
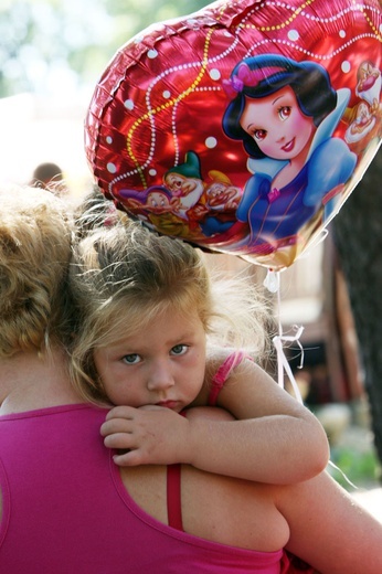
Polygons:
M211 343L264 341L264 301L244 278L212 280L199 249L140 223L119 223L82 240L70 285L76 305L72 379L84 398L107 402L94 351L146 329L173 309L197 312ZM258 346L255 350L258 350Z

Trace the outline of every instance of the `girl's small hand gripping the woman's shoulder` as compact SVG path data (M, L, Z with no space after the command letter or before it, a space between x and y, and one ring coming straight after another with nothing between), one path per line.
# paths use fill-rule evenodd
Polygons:
M100 427L108 448L127 450L114 456L118 466L171 465L188 461L190 424L162 406L116 406Z

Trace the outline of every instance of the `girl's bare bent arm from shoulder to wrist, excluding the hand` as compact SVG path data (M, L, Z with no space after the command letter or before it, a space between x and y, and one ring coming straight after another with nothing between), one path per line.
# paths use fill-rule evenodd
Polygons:
M204 446L194 453L195 467L287 485L311 478L327 466L329 445L318 418L252 361L235 368L216 405L237 421L214 425L198 421L193 434Z

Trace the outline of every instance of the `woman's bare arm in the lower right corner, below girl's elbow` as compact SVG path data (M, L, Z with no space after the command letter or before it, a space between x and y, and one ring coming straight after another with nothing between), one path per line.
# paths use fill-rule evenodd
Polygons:
M294 554L321 574L382 572L382 524L327 472L278 492Z

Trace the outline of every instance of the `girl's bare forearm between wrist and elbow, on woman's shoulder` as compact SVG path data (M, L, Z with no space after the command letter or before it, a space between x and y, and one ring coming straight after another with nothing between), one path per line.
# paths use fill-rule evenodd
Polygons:
M289 415L231 422L198 417L190 421L189 435L191 458L184 463L258 482L307 480L325 469L329 458L323 429Z

